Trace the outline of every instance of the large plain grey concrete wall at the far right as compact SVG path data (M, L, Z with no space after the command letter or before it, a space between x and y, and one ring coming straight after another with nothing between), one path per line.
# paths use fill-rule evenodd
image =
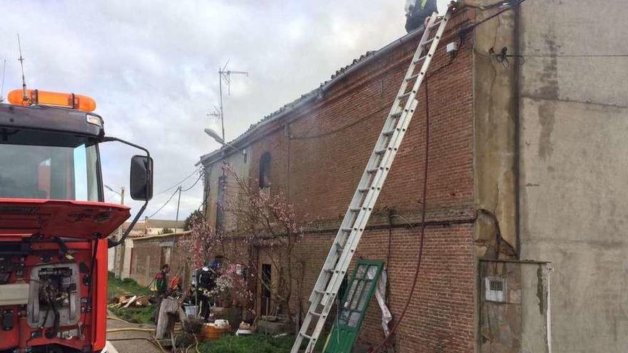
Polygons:
M522 4L522 259L550 261L553 352L628 350L626 1Z

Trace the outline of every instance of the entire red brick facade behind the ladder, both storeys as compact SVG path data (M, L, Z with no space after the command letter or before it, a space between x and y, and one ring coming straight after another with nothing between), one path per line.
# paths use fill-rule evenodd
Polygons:
M456 34L466 16L464 11L457 14L449 33ZM424 257L410 307L395 334L396 352L473 352L475 347L472 50L470 44L462 44L451 58L444 49L449 41L459 41L457 34L441 42L432 61L428 102L424 84L417 94L419 108L355 256L387 260L388 300L397 317L408 300L416 268L429 105ZM260 156L270 153L271 193L285 193L299 220L313 230L300 245L306 257L303 310L417 42L370 60L323 98L258 128L245 142L250 177L258 178ZM389 214L402 218L390 222ZM373 301L360 342L380 342L380 322L380 309Z

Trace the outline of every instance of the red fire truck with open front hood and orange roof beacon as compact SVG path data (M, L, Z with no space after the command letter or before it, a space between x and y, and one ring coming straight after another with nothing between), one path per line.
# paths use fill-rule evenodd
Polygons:
M101 352L106 340L108 247L121 244L152 198L146 148L105 135L87 96L38 90L0 104L0 352ZM141 150L131 158L129 216L103 202L98 145Z

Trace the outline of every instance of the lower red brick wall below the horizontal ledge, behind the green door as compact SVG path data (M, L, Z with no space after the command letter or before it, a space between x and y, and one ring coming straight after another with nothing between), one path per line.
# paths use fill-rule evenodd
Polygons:
M306 235L302 306L332 245L334 234ZM402 312L415 274L420 231L394 227L364 232L355 260L385 260L388 264L388 300L393 317ZM472 352L474 339L475 255L472 224L431 226L425 230L420 275L405 318L395 335L396 352ZM304 309L305 310L305 309ZM331 320L330 320L331 321ZM393 320L393 323L395 321ZM383 339L381 311L373 298L360 331L359 342Z

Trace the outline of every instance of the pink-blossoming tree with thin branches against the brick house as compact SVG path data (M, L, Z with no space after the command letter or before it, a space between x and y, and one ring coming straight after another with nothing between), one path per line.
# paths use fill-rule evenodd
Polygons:
M191 236L185 243L191 265L199 268L209 258L223 255L216 295L228 293L234 303L252 309L253 291L260 285L272 293L278 311L292 319L289 303L295 289L300 293L305 265L298 247L303 231L293 207L283 193L271 195L252 186L252 180L240 178L230 165L223 165L223 175L229 183L223 183L226 203L222 207L233 222L214 230L203 217L191 220ZM258 274L255 251L278 272L275 283Z

